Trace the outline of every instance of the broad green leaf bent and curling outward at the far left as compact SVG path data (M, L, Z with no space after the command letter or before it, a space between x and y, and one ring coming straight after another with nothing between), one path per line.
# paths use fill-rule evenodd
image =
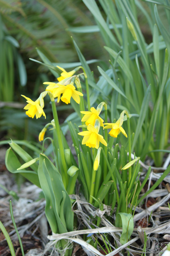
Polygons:
M17 170L21 166L21 163L19 162L17 156L15 155L15 153L12 151L11 148L8 148L8 150L6 151L5 165L8 171L12 173L20 173L23 177L28 179L33 184L35 184L38 187L41 187L39 183L38 175L36 172L26 171L26 170Z

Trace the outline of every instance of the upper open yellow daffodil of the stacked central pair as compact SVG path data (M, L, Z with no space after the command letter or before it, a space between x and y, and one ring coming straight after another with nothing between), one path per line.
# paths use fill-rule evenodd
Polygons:
M81 111L82 114L84 114L83 118L82 118L82 122L86 122L86 125L95 125L95 121L96 119L99 120L100 122L100 126L102 126L104 128L103 122L104 120L99 116L100 112L97 111L94 107L92 107L90 109L90 111Z

